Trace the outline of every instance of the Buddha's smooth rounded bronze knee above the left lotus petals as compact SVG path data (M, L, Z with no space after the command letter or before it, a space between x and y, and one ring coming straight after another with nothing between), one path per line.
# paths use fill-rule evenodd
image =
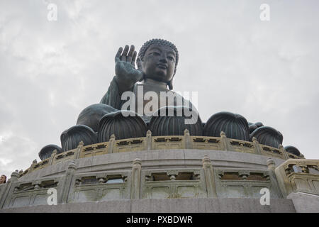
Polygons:
M93 131L97 132L101 118L104 115L115 111L117 111L117 109L106 104L93 104L87 106L79 114L79 117L77 118L77 125L89 126L93 129Z

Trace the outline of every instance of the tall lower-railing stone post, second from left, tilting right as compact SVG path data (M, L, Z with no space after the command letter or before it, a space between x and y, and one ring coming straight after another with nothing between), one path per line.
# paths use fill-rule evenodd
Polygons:
M74 161L69 163L67 170L65 171L65 177L62 180L60 196L58 194L58 201L60 203L67 203L69 196L69 189L71 187L72 178L74 177L74 172L77 170L77 165Z

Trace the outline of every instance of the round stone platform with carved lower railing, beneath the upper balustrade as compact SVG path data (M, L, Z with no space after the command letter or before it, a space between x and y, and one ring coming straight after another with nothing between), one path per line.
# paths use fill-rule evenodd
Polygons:
M108 153L13 172L0 185L0 211L319 212L316 168L318 160L228 150ZM57 189L57 205L47 205L50 188ZM263 188L269 206L260 204Z

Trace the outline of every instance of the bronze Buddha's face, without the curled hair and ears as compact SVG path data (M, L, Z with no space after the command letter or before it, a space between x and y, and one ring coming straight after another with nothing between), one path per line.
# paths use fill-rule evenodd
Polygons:
M176 53L167 45L152 44L141 62L146 79L169 82L174 76Z

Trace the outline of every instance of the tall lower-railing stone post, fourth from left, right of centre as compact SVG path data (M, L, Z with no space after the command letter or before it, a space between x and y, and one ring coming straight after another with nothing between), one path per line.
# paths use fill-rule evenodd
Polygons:
M213 165L211 164L211 159L207 155L203 157L203 170L205 174L208 198L217 198Z

